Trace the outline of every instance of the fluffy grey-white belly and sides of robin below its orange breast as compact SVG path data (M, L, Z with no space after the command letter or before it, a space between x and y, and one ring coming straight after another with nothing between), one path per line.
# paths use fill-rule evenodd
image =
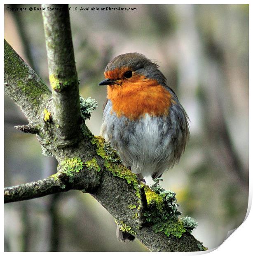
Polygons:
M176 164L189 137L187 114L175 97L168 116L129 120L117 117L108 100L103 110L101 135L118 152L125 166L141 177L157 178Z

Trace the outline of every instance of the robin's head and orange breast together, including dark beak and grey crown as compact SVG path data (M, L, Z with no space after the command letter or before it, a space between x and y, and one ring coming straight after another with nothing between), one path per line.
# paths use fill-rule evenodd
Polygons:
M98 85L108 85L107 98L118 117L162 116L171 105L171 92L158 65L136 52L112 59Z

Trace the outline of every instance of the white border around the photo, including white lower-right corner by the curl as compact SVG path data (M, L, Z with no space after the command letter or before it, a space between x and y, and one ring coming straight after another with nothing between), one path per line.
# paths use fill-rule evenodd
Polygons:
M11 1L12 4L21 4L20 1ZM69 4L69 1L53 1L54 3L66 3L66 4ZM9 2L7 2L6 0L4 1L4 4L8 4ZM29 1L29 0L26 0L26 1L23 1L22 4L40 4L41 2L37 2L37 1ZM122 3L122 2L118 2L118 1L109 1L110 4L127 4L127 5L132 5L132 4L137 4L136 1L133 1L133 0L129 0L127 3ZM3 5L4 5L3 4ZM73 4L84 4L84 2L81 2L81 1L72 1L71 5ZM86 4L86 3L85 3ZM94 4L108 4L108 2L105 2L105 1L94 1L92 3L93 5ZM154 4L154 2L151 2L151 1L138 1L138 4ZM155 4L165 4L164 1L156 1ZM249 1L246 2L246 1L225 1L225 0L212 0L212 1L203 1L203 0L198 0L198 1L193 1L193 2L189 2L189 1L183 1L183 0L178 0L178 1L166 1L166 4L249 4ZM4 7L4 6L3 6ZM0 13L2 14L1 15L1 19L2 19L2 22L1 22L1 28L2 28L2 33L4 31L4 8L1 9ZM252 19L251 19L251 8L249 8L249 27L252 27ZM250 42L252 41L251 40L251 33L249 34L249 40ZM2 82L4 81L3 79L3 76L4 76L4 67L3 67L3 58L4 58L4 53L3 53L3 48L4 48L4 44L3 44L3 40L1 41L1 56L2 56L2 62L1 62L1 67L2 67ZM249 56L251 57L251 48L249 49ZM249 67L251 67L251 58L250 58L250 61L249 61ZM251 73L249 73L250 77L249 77L249 84L251 84ZM251 99L251 86L249 86L249 97ZM1 94L1 104L2 104L2 116L4 116L4 94L3 94L3 89L2 89L2 94ZM251 102L251 100L249 100L249 110L250 112L252 113L252 105L253 103ZM1 145L4 145L4 140L3 140L3 134L4 134L4 130L3 130L3 127L4 127L4 120L3 118L1 119ZM249 115L249 131L253 131L253 125L252 125L252 118L251 118L251 115ZM249 155L251 156L251 153L252 153L252 136L251 134L249 134L249 142L250 142L250 146L249 146ZM2 164L4 164L4 157L3 157L3 154L1 154L1 162ZM249 170L251 170L251 157L249 159ZM3 170L4 168L2 168ZM2 175L3 175L3 172L2 172ZM252 188L253 188L253 182L252 182L252 175L251 175L251 171L250 171L250 183L249 183L249 204L248 204L248 211L247 211L247 214L246 214L246 217L245 217L245 221L244 223L241 224L241 226L239 228L237 228L236 232L233 232L232 235L230 235L230 237L228 239L226 239L225 242L223 242L223 244L220 245L220 247L218 247L218 249L213 249L213 250L208 250L206 252L186 252L186 253L176 253L176 252L170 252L169 254L170 255L175 255L175 254L184 254L184 255L198 255L198 254L206 254L206 253L211 253L211 255L213 256L218 256L218 255L227 255L227 254L245 254L245 255L249 255L249 252L251 251L252 253L252 250L251 250L251 244L252 244L252 227L253 227L253 213L252 211L250 211L251 209L251 204L252 204ZM3 181L3 178L2 178L2 184L4 183ZM4 187L4 185L2 186ZM3 201L3 199L2 199ZM2 205L3 205L3 202L2 202ZM3 207L2 207L3 208ZM3 213L3 210L2 210L2 213ZM2 218L2 221L3 221L3 218ZM2 251L4 251L4 230L2 230ZM205 245L205 243L204 243ZM31 252L32 253L32 252ZM83 252L70 252L69 254L82 254L83 255ZM115 254L117 252L102 252L103 254L105 255L111 255L111 254ZM168 252L164 252L166 254L168 254ZM159 253L159 254L164 254L164 253ZM20 254L20 252L13 252L11 254ZM39 254L44 254L44 252L39 252ZM48 252L47 254L52 254L52 252ZM68 253L63 253L61 252L61 254L68 254ZM96 254L94 252L85 252L85 254ZM101 254L101 253L100 253ZM121 252L121 254L129 254L129 252ZM146 254L146 253L138 253L138 254ZM154 253L153 253L154 254ZM158 254L158 253L155 253L155 254Z

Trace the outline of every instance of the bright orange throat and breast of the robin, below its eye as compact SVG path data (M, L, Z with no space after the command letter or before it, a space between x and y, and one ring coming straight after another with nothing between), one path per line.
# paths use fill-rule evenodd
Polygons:
M171 94L156 80L138 76L121 85L107 87L108 99L118 117L126 116L136 120L145 114L163 116L168 114L171 105Z

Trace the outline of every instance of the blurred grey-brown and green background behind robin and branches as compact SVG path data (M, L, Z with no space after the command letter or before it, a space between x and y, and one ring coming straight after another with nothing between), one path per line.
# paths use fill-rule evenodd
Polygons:
M5 39L49 85L39 5L7 11ZM70 5L80 8L80 5ZM192 234L212 249L244 220L248 207L248 5L82 5L133 11L70 11L80 94L98 101L87 121L99 135L106 64L126 52L155 60L190 117L190 143L163 175L176 192ZM41 154L35 135L5 97L5 187L46 178L57 162ZM148 183L152 180L148 179ZM147 251L136 239L120 243L110 214L80 191L5 205L5 251Z

